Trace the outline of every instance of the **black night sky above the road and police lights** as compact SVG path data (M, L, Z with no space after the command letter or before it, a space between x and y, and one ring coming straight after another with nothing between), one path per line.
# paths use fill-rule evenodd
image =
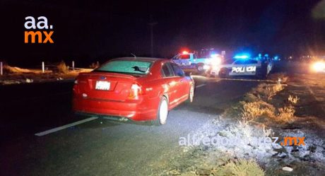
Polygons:
M50 1L1 0L0 60L85 65L112 57L172 57L182 48L215 47L270 54L325 54L321 1ZM323 12L322 12L323 11ZM46 16L54 44L25 44L26 16Z

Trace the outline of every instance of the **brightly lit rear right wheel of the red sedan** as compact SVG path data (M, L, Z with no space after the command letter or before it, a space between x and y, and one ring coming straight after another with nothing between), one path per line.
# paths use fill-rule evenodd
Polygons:
M162 96L158 105L157 117L151 121L151 124L159 126L166 124L168 117L168 100L165 96Z

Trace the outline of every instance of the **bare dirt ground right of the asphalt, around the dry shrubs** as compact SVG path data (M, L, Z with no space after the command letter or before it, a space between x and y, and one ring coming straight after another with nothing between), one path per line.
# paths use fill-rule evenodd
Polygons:
M223 134L231 138L247 133L252 136L305 136L305 146L271 147L254 146L239 139L235 145L228 146L184 146L183 153L170 160L165 170L158 175L220 175L218 168L227 163L245 158L253 159L264 169L266 175L324 175L325 174L325 75L296 74L289 76L285 88L269 102L274 107L283 107L288 96L299 98L295 104L293 122L237 123L230 114L220 115L207 122L194 134L216 136ZM235 109L235 112L236 111ZM237 112L238 113L238 112ZM269 130L270 133L267 132ZM283 167L293 168L292 172ZM161 174L162 173L162 174Z

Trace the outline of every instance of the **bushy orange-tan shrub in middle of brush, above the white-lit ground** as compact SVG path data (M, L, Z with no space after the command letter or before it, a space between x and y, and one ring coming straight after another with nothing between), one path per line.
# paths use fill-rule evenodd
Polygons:
M275 108L273 105L264 102L263 100L258 100L256 102L242 102L242 117L251 121L262 115L266 117L275 117Z

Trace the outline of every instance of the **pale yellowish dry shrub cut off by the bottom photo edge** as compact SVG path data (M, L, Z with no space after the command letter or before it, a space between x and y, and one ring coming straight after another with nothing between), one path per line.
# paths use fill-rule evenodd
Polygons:
M260 176L265 175L264 170L254 160L230 161L226 165L217 168L215 175L220 176Z

